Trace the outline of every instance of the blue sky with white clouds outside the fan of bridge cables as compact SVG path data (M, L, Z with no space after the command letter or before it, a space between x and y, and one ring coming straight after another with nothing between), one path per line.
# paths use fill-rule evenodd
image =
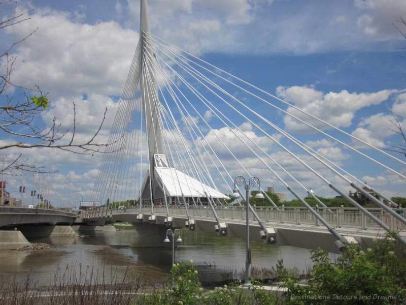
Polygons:
M403 124L406 117L406 50L402 49L406 39L394 26L406 32L397 21L406 18L404 0L150 0L148 5L154 35L377 147L401 143L390 130L390 119L396 115ZM10 9L7 3L2 6L4 18ZM38 27L11 51L17 56L13 83L38 85L48 92L54 109L40 124L49 125L56 116L62 129L71 129L75 102L78 140L94 132L107 107L98 138L107 140L139 38L140 2L19 1L18 11L30 9L34 9L30 20L0 30L3 53ZM0 96L0 103L5 103L6 95L21 97L19 90L10 88ZM301 133L321 153L351 166L343 148L313 135L306 138L295 121L287 116L282 120L286 130ZM4 133L0 136L0 143L16 141ZM2 151L8 158L19 153ZM30 149L23 151L23 159L58 170L42 177L49 199L58 206L72 206L81 195L84 200L90 197L101 156ZM403 165L393 166L406 174ZM404 180L385 170L373 171L367 164L360 167L365 170L357 174L369 185L380 186L388 196L406 196ZM8 190L19 196L19 178L6 179ZM25 180L24 185L32 183L32 175ZM317 190L317 185L313 188ZM331 195L324 189L318 193Z

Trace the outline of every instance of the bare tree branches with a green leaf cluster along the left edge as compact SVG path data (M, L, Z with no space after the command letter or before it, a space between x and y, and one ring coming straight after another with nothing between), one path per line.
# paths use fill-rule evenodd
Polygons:
M14 26L18 23L29 20L29 14L33 10L25 11L21 14L17 14L18 0L6 0L0 2L0 6L12 5L12 13L10 16L0 15L0 30L5 29L10 26ZM0 13L3 12L0 7ZM22 101L14 101L13 98L7 96L5 105L0 105L0 130L11 135L13 142L3 143L0 145L0 150L17 147L17 148L57 148L64 151L70 151L71 153L80 155L91 155L94 153L102 153L100 151L103 147L112 145L114 143L97 143L95 141L97 135L100 133L103 124L105 123L107 108L104 111L103 118L100 121L100 125L93 135L85 141L76 141L77 138L77 119L76 119L76 105L73 103L73 131L72 136L67 141L64 141L64 137L69 133L69 129L60 132L60 124L57 123L56 117L53 117L52 124L50 127L41 128L38 125L37 119L41 119L42 115L52 109L48 106L47 94L43 94L39 86L35 86L36 89L27 88L20 86L12 82L12 72L14 70L14 64L16 61L15 55L10 55L10 51L20 43L23 43L28 38L33 36L38 28L34 29L31 33L26 35L24 38L12 43L11 46L6 47L6 50L0 50L0 58L5 58L4 67L0 69L0 95L4 94L8 86L21 88L28 90L28 92L36 92L39 97L36 96L29 97L26 93L25 99ZM3 70L4 69L4 70ZM21 138L21 139L18 139ZM118 139L117 141L119 141ZM109 151L112 153L113 151ZM45 171L43 167L37 167L35 165L29 165L27 160L21 160L21 154L6 164L4 168L0 167L0 173L5 173L10 169L21 169L25 171L32 172L49 172Z

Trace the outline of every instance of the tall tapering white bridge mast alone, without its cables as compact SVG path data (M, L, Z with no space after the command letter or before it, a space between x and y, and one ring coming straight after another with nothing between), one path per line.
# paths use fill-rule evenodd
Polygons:
M145 118L145 127L148 141L149 175L151 188L154 190L154 155L166 155L162 136L162 123L159 115L158 91L155 79L155 53L149 37L150 25L148 18L147 0L141 0L140 21L140 80L141 100Z

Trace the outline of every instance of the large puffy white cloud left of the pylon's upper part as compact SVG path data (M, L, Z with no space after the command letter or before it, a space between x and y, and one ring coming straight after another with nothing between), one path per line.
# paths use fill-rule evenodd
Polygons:
M39 85L51 98L81 95L92 90L120 95L138 41L136 32L115 22L95 25L70 20L69 14L37 9L30 20L7 28L22 37L36 33L16 47L13 82Z

